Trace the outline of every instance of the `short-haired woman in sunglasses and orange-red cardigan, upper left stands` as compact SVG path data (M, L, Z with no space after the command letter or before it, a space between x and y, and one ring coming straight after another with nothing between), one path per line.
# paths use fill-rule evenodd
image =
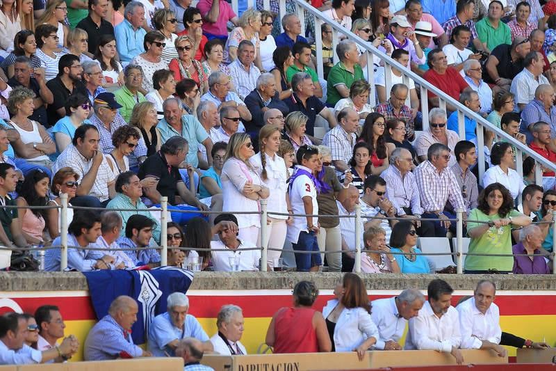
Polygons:
M178 58L173 58L168 68L174 72L177 81L193 79L203 95L208 91L208 74L204 72L201 63L193 58L193 40L187 35L180 36L176 39L175 45Z

